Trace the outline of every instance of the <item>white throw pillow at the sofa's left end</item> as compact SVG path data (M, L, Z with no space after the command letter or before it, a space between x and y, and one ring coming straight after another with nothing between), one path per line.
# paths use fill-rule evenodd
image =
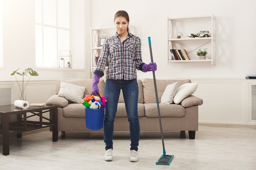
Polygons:
M81 103L84 92L85 87L61 82L61 88L58 92L58 96L65 97L70 102Z

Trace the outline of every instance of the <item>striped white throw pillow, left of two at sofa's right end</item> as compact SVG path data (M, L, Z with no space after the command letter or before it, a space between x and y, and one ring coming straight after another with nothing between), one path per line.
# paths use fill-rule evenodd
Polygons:
M173 84L168 84L161 97L161 103L164 103L164 104L173 103L173 97L176 94L177 89L178 89L178 82L175 82Z

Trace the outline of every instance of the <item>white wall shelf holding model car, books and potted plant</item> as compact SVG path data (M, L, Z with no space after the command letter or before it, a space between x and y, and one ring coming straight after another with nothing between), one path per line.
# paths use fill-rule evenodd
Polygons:
M211 37L190 38L191 33L209 31ZM177 35L182 33L181 38ZM171 62L211 62L216 65L216 18L212 15L170 18L168 17L168 64ZM205 60L198 60L196 51L206 49ZM173 60L171 49L186 49L190 60Z

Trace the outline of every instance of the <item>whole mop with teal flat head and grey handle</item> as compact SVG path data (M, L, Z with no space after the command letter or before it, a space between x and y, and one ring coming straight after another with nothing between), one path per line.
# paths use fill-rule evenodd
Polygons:
M153 62L150 37L148 37L148 44L149 44L151 62ZM157 84L155 81L155 71L153 71L153 78L154 78L154 85L155 85L155 97L157 100L156 102L157 102L157 110L158 110L158 116L159 116L160 131L161 131L162 144L163 144L163 155L159 158L159 160L156 162L156 164L157 165L170 165L171 161L173 160L174 155L166 155L166 151L165 151L165 147L164 147L164 135L163 135L162 122L161 122L160 109L159 109L159 101L158 101L158 95L157 95Z

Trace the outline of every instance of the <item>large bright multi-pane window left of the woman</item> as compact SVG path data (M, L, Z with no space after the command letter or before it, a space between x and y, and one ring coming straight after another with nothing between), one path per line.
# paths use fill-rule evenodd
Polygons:
M59 51L70 50L69 18L69 0L35 0L36 67L59 68Z

